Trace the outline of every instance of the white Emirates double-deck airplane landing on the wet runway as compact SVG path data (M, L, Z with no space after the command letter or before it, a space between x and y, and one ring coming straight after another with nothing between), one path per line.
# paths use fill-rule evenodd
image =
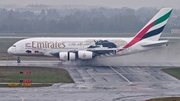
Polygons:
M162 8L131 38L27 38L14 43L7 52L17 56L54 56L61 61L75 61L122 56L164 47L168 45L168 40L159 38L172 10Z

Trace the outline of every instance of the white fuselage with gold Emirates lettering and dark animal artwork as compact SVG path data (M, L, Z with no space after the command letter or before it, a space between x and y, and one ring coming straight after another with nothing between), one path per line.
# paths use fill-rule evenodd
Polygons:
M98 55L98 57L101 57L126 55L155 48L142 47L142 43L151 42L142 40L132 47L116 52L117 50L122 49L131 39L132 38L29 38L16 42L8 49L8 53L14 55L53 56L51 53L77 52L80 50L96 51L96 49L100 51L115 50L115 53L108 52ZM98 41L99 43L96 44L95 42ZM98 48L94 48L96 46L98 46Z

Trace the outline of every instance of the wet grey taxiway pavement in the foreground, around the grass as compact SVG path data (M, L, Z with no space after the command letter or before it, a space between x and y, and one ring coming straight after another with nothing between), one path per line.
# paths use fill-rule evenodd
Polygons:
M39 63L39 64L38 64ZM61 62L1 61L1 65L65 68L75 83L42 88L0 88L0 101L145 101L180 96L180 81L162 68L173 66L66 66Z

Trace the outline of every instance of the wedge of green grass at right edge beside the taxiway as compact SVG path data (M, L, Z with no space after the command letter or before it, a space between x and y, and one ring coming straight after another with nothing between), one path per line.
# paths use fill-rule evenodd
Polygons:
M162 71L180 80L180 68L167 68Z

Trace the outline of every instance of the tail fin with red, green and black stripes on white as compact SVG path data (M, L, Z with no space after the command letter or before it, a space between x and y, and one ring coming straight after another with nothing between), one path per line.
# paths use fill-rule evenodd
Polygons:
M162 8L123 49L128 48L143 39L158 41L171 15L172 8ZM121 51L122 49L118 50Z

